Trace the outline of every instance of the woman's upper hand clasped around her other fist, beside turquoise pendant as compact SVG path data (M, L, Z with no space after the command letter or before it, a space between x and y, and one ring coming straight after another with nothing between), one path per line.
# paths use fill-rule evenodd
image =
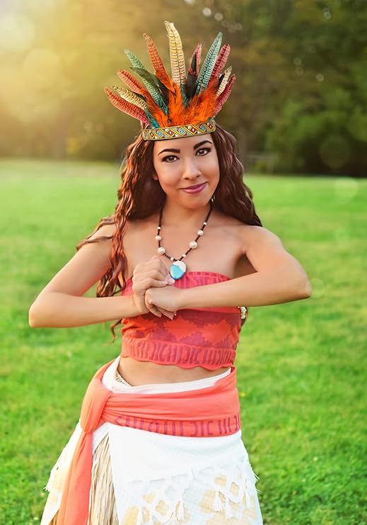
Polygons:
M174 282L175 280L170 276L167 266L163 264L158 255L154 255L150 261L136 264L132 274L132 298L139 313L143 315L151 312L157 317L162 317L163 314L173 319L176 312L169 312L154 305L148 308L145 302L145 293L148 288L153 286L163 287Z

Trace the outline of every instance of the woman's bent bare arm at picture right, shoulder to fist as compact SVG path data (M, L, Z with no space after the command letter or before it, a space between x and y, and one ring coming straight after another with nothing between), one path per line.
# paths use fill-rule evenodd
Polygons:
M243 253L255 273L182 290L150 288L146 291L146 302L182 310L190 307L275 305L310 297L311 286L305 270L286 252L279 237L260 226L245 231Z

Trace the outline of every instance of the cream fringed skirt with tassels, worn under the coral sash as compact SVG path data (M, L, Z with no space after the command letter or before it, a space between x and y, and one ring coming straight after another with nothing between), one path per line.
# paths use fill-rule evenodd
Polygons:
M226 376L185 383L129 385L117 358L103 383L116 392L179 392L205 388ZM46 489L41 525L57 525L62 489L78 423ZM104 423L93 433L88 525L262 525L260 504L241 431L229 436L182 437Z

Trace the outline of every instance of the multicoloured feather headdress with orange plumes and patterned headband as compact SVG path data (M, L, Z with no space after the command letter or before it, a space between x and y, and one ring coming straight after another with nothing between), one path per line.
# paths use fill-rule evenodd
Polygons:
M171 22L165 21L170 44L172 78L165 71L156 45L144 33L146 47L154 73L131 51L125 50L132 62L132 71L141 77L118 69L117 74L127 88L105 88L115 108L137 118L144 125L145 140L167 140L212 133L216 129L214 117L221 111L231 93L235 75L232 68L223 71L231 47L221 47L222 33L218 33L199 69L202 44L199 43L190 60L188 72L180 34Z

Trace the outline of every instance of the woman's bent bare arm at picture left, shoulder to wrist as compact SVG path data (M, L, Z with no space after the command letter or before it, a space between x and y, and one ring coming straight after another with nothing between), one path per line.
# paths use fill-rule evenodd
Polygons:
M112 235L105 225L92 238ZM139 315L129 296L82 297L110 267L111 241L85 244L52 278L29 310L30 327L78 327Z

